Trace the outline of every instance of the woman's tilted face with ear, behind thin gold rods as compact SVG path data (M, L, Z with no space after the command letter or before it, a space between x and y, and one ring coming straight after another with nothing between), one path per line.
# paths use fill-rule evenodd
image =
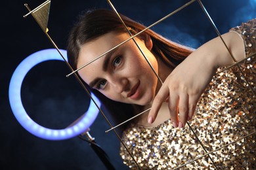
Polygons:
M127 33L110 32L81 46L77 68L104 54L129 38ZM152 41L148 35L135 37L156 73L158 62L150 52ZM106 97L123 103L148 105L154 98L158 78L137 48L133 39L93 61L78 71L81 78Z

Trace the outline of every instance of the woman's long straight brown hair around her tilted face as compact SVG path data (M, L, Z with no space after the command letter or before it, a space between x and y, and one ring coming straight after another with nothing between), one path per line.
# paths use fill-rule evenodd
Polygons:
M144 25L127 18L122 14L120 14L120 16L133 34L146 28ZM70 32L70 37L68 39L68 62L73 69L77 69L77 58L81 46L86 42L92 41L111 31L127 32L115 12L112 10L89 10L81 16L79 22L74 25ZM165 63L172 69L179 65L179 63L192 52L190 48L169 41L151 29L146 29L144 33L150 35L152 39L152 53L165 61ZM135 114L131 105L107 99L101 93L95 92L95 90L93 90L93 92L96 93L104 103L106 111L112 115L112 119L116 124L131 118L131 116Z

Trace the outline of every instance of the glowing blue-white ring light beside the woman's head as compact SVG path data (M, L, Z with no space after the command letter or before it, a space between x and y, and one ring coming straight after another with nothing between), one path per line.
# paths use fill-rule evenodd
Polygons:
M60 50L60 52L62 52L64 58L66 59L66 50ZM95 121L96 116L98 115L98 108L91 100L89 109L87 110L87 112L85 112L84 116L73 126L67 127L65 129L49 129L47 127L40 126L39 124L35 123L30 118L30 116L28 116L26 110L22 105L22 100L20 97L22 82L26 74L35 65L43 61L54 59L64 61L64 59L60 57L60 54L58 54L58 51L56 49L41 50L39 52L31 54L30 56L28 56L28 58L24 59L20 63L20 65L18 65L12 75L9 86L9 101L14 116L27 131L42 139L55 141L70 139L86 131ZM100 101L93 94L92 97L93 99L95 99L98 107L100 107Z

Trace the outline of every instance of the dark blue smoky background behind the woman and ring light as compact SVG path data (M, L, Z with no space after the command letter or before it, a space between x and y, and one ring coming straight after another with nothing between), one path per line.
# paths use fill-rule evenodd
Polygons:
M9 82L18 64L30 54L53 48L24 3L34 9L44 1L1 2L0 62L0 169L104 169L89 144L77 137L65 141L47 141L28 133L12 114ZM112 1L117 11L150 25L188 1ZM221 33L256 16L255 0L202 1ZM51 3L49 35L59 48L66 49L68 32L82 10L108 8L107 1L64 1ZM197 2L153 27L161 35L194 48L216 37ZM28 114L42 126L62 129L81 116L89 97L74 78L66 78L68 67L60 61L35 66L22 84L22 102ZM99 114L91 135L110 156L116 169L127 169L119 158L119 141Z

